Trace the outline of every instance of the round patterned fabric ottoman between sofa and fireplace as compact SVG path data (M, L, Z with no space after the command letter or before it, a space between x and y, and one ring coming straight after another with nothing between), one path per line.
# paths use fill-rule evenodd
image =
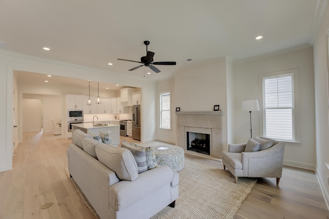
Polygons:
M158 150L158 148L166 147L167 150ZM185 158L184 158L184 149L181 147L177 147L174 145L160 145L160 146L152 146L156 163L159 166L167 165L173 171L179 172L185 166Z

